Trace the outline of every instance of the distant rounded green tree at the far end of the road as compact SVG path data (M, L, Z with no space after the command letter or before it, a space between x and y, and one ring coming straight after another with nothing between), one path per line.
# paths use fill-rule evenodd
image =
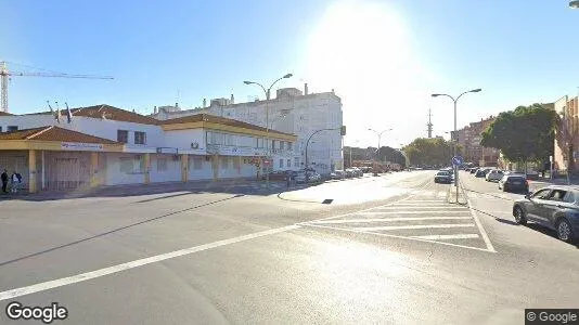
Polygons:
M411 165L449 165L452 143L442 138L419 138L403 148Z

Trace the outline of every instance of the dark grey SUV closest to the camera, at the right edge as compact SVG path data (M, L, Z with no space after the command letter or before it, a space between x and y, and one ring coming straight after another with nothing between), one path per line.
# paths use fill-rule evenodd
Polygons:
M577 240L579 187L553 185L527 194L513 204L513 216L518 224L532 221L554 230L563 242Z

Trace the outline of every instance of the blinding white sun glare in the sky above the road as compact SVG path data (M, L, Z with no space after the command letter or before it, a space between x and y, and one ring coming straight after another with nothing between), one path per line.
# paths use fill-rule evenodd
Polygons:
M426 112L425 107L408 106L414 100L427 100L423 86L427 73L419 63L412 40L402 16L387 3L336 2L309 38L308 79L323 88L320 90L336 89L344 99L344 120L352 132L400 125L403 121L393 118L391 113L423 109L416 112L422 116ZM379 126L369 121L369 116L381 118Z

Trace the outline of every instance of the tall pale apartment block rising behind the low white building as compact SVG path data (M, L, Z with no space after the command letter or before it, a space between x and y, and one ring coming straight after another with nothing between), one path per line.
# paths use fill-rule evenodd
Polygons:
M296 88L279 89L275 99L269 101L235 104L232 95L231 99L211 100L208 107L204 104L204 107L195 109L155 109L151 117L165 120L195 114L210 114L296 134L297 158L301 168L306 167L308 138L318 130L332 129L316 133L311 139L308 164L319 173L344 168L343 139L339 132L343 126L342 100L333 91L310 94L306 84L304 92ZM284 167L274 164L272 168Z

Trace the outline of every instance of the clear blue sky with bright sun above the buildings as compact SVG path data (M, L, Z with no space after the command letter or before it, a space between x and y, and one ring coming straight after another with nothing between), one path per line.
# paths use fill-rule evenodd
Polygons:
M568 0L0 0L0 61L22 73L113 80L13 77L10 112L95 104L236 102L262 91L243 80L342 98L346 145L449 138L458 127L579 92L579 10Z

